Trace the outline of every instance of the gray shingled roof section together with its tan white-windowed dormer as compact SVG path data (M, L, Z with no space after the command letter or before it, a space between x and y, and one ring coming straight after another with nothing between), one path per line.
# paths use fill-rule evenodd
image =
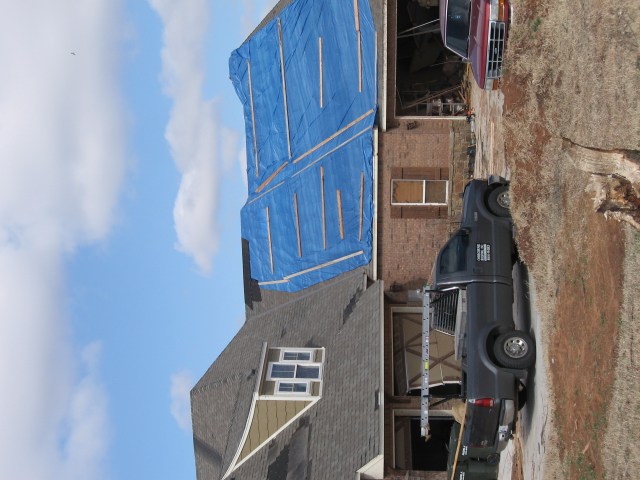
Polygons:
M362 268L263 290L191 392L198 479L381 473L381 299Z

